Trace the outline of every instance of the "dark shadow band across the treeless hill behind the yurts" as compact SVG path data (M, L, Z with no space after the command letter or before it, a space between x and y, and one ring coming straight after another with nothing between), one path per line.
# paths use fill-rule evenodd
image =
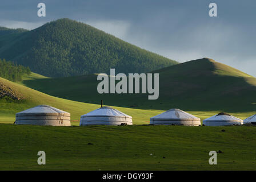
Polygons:
M254 79L256 82L256 78ZM253 81L254 81L253 80ZM23 84L51 96L90 104L129 107L134 109L189 111L225 111L230 113L256 111L256 85L244 77L210 75L205 78L170 78L159 85L158 100L149 94L98 94L96 76L83 79L53 78L26 80ZM42 103L43 104L43 103Z

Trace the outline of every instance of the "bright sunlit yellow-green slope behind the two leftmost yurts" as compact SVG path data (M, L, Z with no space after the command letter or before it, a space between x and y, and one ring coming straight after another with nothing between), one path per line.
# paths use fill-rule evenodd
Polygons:
M26 76L25 80L34 78L39 81L40 79L43 79L43 76L32 73L30 76ZM101 101L99 100L98 103L100 104L100 102ZM14 123L15 113L42 104L51 105L69 112L71 114L71 121L73 121L71 123L72 125L78 125L78 121L82 114L89 113L89 111L100 107L100 105L97 104L87 104L49 96L45 93L38 92L37 90L27 88L26 86L0 77L0 123ZM126 114L132 115L134 124L147 124L149 115L153 116L161 112L123 107L115 108Z

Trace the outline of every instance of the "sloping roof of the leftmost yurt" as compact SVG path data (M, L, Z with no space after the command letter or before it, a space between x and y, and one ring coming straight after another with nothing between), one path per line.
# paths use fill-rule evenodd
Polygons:
M38 115L38 114L64 114L64 115L70 115L70 113L67 113L66 111L57 109L55 107L51 107L49 105L38 105L35 107L32 107L30 109L21 111L17 113L17 116L21 115Z

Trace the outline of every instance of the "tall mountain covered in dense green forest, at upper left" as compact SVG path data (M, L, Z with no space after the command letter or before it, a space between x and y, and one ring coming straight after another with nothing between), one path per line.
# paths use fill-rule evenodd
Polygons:
M3 34L0 57L29 66L49 77L109 72L149 72L177 64L97 30L85 23L59 19L31 31ZM10 30L8 30L10 31Z

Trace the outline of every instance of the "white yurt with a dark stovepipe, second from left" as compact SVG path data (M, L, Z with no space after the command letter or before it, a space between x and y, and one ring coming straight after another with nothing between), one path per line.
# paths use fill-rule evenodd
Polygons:
M84 125L133 125L130 115L122 113L112 107L104 106L90 113L81 115L80 126Z

